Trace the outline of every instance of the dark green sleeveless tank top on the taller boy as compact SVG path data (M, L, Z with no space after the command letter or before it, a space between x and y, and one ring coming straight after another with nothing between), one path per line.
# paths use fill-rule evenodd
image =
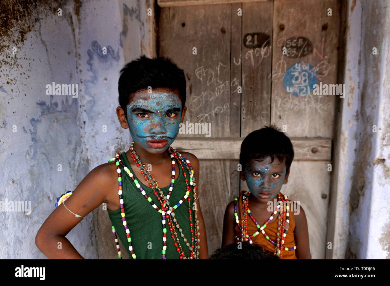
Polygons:
M143 182L145 182L144 176L141 174L140 170L136 170L135 172L131 169L130 163L127 160L127 156L125 152L120 154L119 159L122 160L124 165L129 168L130 172L137 179L141 187L144 189L145 193L152 198L153 202L160 207L160 201L157 200L156 195L154 195L154 191L149 186L145 186ZM175 164L176 172L179 170L179 177L175 180L174 187L172 190L172 194L169 198L170 206L174 206L181 199L183 199L186 193L187 184L184 181L185 177L183 175L183 170L180 168L179 163L176 159ZM130 231L131 244L134 250L137 259L161 259L162 258L162 250L163 250L163 225L162 225L162 215L156 209L152 207L152 205L147 201L147 199L142 195L140 190L135 186L134 182L131 180L129 175L121 166L122 173L122 198L124 202L124 213L126 217L127 226ZM141 179L138 179L141 178ZM189 179L189 175L187 175ZM196 178L195 178L196 179ZM156 178L158 182L158 178ZM161 188L161 187L160 187ZM192 189L192 188L191 188ZM161 191L164 195L168 194L169 185L161 188ZM191 198L191 210L192 204L194 202L193 192L191 191L188 195ZM119 197L118 197L119 200ZM180 228L182 228L182 232L184 237L191 244L192 233L190 232L190 214L188 213L188 200L184 201L177 209L174 211L175 218L177 219L177 223L179 223ZM129 256L131 258L131 253L129 251L129 243L126 237L126 231L123 226L122 216L121 216L121 207L116 209L115 211L108 210L108 216L111 220L112 225L115 227L115 232L119 240L121 240L123 246L126 248ZM195 212L192 211L192 222L194 223ZM168 227L168 219L166 221L167 226L167 250L165 251L165 258L167 259L180 259L179 252L177 252L177 247L174 245L175 241L171 237L172 233ZM195 226L195 223L194 223ZM195 227L193 226L194 232ZM177 237L179 237L180 245L182 246L183 252L186 257L190 257L190 249L186 246L186 243L183 241L183 238L180 236L180 232L176 230ZM176 240L176 237L175 237ZM115 244L113 244L113 247ZM122 251L122 250L121 250ZM196 249L193 250L195 253Z

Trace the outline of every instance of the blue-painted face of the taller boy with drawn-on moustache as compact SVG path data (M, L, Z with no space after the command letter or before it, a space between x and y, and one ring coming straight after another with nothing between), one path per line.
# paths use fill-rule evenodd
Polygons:
M138 91L126 113L131 137L149 153L163 153L179 133L181 100L170 89Z

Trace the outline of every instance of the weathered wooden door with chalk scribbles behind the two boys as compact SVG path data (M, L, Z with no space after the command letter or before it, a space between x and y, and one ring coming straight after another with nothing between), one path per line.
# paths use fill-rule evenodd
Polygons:
M209 253L221 246L226 205L248 189L238 172L243 137L274 123L295 152L282 192L305 209L312 258L325 258L335 96L313 95L308 85L336 83L338 1L158 4L158 55L186 74L184 122L211 123L210 137L179 134L173 144L200 160Z

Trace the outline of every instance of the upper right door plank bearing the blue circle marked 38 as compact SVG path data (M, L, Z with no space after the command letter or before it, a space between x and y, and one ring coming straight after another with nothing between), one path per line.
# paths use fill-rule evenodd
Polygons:
M337 0L274 2L271 123L288 136L333 136L339 95L313 95L312 86L337 83L339 22Z

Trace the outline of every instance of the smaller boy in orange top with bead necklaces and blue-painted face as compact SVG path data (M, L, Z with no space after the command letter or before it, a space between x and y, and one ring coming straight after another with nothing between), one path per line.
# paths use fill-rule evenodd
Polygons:
M299 212L293 210L292 202L280 193L293 158L290 139L273 126L243 140L240 175L249 192L241 191L226 207L222 247L248 241L282 259L311 259L305 212L299 205Z

